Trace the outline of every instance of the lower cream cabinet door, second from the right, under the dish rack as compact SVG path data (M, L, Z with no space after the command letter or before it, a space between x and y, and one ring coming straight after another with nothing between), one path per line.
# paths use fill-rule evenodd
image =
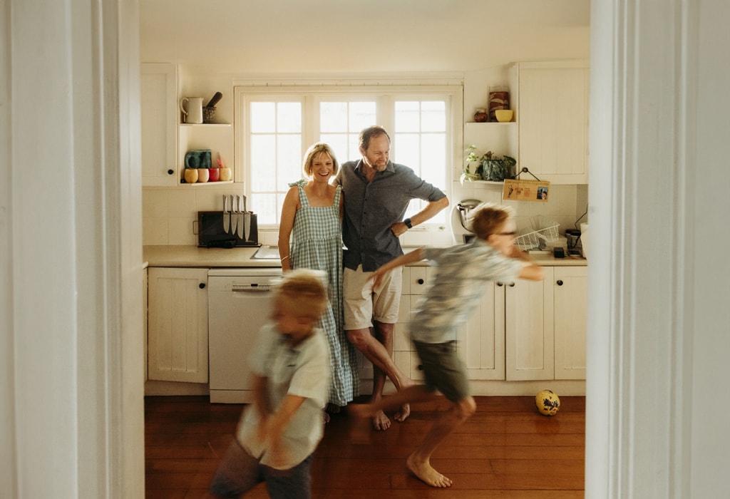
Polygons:
M553 268L545 280L504 285L505 376L508 381L553 379ZM498 283L497 285L499 285Z

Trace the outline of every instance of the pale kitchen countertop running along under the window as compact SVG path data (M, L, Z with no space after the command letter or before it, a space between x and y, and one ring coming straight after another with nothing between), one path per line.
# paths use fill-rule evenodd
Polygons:
M404 247L405 252L415 248ZM196 246L145 246L142 260L150 267L281 267L278 258L251 258L258 247L199 248ZM585 266L585 258L553 258L552 255L531 255L542 266ZM424 260L412 266L428 266Z

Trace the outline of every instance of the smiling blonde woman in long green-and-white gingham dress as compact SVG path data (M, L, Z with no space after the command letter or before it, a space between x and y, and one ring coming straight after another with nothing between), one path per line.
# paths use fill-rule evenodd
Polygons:
M342 319L342 190L330 185L337 158L318 142L304 155L302 169L309 180L291 184L279 226L283 271L314 268L328 274L327 307L318 323L327 336L332 367L328 412L337 412L359 395L356 353L347 341Z

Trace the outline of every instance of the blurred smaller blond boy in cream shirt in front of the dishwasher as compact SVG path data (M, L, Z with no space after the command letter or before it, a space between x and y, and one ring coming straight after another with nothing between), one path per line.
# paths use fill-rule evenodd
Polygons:
M310 498L312 455L323 436L329 349L315 323L325 309L326 274L287 272L274 291L271 321L250 355L254 403L210 485L238 498L266 481L272 498Z

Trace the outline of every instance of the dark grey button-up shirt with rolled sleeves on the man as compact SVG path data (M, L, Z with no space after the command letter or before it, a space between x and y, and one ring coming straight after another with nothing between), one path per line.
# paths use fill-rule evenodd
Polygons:
M345 267L372 272L403 254L401 242L391 225L401 222L411 199L439 201L442 190L420 179L412 169L388 161L385 171L378 171L368 182L362 160L347 161L340 166L335 185L345 194L345 217L342 242Z

